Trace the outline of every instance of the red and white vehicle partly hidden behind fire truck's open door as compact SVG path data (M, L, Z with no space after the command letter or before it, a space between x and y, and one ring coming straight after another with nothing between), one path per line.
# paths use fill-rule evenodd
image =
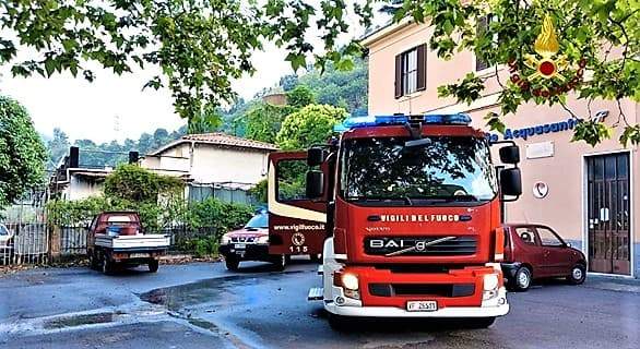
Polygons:
M286 267L288 256L269 253L269 213L259 210L247 225L222 237L218 248L227 269L237 270L241 261L271 262L278 269Z

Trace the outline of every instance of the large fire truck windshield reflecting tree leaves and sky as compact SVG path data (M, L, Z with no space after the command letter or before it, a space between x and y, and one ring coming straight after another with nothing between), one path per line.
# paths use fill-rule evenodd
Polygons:
M341 195L352 202L413 205L481 202L497 193L488 143L470 136L432 136L419 147L407 137L346 140Z

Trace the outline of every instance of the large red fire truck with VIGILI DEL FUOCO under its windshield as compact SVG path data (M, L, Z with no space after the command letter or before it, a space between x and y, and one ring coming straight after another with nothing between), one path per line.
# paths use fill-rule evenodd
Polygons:
M519 149L500 144L502 165L494 165L485 133L470 122L466 115L349 118L340 139L307 152L305 197L270 201L274 226L327 234L323 287L309 299L323 301L332 325L461 317L487 327L509 312L501 202L521 194ZM278 192L277 181L270 184Z

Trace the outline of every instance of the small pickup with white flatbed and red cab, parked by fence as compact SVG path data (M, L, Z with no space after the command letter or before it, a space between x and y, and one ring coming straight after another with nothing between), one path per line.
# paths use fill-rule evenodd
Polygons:
M91 224L87 254L91 267L105 274L117 267L149 265L156 273L159 257L169 248L169 237L145 234L134 212L105 212Z

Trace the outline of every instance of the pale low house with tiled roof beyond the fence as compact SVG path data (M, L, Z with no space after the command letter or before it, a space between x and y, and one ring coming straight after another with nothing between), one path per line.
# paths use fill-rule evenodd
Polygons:
M142 167L186 176L191 186L248 189L266 176L269 153L277 146L225 133L189 134L144 156Z

